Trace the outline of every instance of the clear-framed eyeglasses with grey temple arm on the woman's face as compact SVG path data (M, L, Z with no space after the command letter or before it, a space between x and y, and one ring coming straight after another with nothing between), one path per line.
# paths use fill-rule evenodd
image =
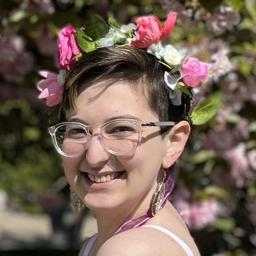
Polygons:
M84 125L78 122L63 122L49 128L54 146L66 157L80 156L87 149L92 137L92 129L97 134L103 148L113 155L132 153L141 141L142 131L152 126L174 126L175 122L142 122L134 119L116 119L102 125Z

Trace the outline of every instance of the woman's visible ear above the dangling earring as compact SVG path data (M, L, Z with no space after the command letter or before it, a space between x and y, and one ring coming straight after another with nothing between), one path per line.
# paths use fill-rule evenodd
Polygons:
M169 168L176 162L180 157L185 144L188 140L188 135L190 132L190 125L187 121L181 121L172 127L172 130L166 135L166 154L162 161L162 166L164 168Z

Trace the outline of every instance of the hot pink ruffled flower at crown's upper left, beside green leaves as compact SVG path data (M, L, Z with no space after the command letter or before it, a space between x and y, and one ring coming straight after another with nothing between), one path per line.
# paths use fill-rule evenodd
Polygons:
M59 34L59 58L60 68L70 69L75 62L76 55L80 53L81 48L76 42L76 30L68 25L62 28Z

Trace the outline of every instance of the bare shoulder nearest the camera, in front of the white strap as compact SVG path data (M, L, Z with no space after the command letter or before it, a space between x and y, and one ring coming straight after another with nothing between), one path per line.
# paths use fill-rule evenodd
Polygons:
M187 256L170 236L155 228L134 228L109 238L96 256Z

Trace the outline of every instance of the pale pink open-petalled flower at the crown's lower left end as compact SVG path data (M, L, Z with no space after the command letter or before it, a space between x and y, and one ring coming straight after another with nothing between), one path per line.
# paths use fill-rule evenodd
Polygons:
M37 84L38 90L41 91L38 98L46 98L46 105L48 107L59 104L61 102L63 86L61 86L57 81L58 74L48 71L40 71L39 74L44 76L46 79L39 81Z

